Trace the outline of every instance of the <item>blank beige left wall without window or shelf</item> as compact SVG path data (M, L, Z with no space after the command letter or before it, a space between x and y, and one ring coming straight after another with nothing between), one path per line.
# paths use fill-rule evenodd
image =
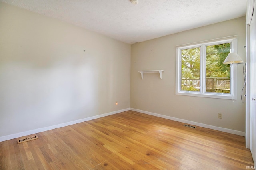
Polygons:
M129 44L0 3L0 136L129 107Z

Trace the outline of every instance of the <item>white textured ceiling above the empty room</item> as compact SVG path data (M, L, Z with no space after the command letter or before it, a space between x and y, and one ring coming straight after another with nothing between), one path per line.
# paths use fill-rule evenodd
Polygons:
M0 0L129 44L246 15L247 0Z

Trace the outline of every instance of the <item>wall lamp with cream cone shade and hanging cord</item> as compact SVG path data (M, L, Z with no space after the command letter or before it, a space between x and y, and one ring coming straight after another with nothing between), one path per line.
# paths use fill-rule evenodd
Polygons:
M242 103L244 103L244 101L242 100L242 94L244 91L244 87L245 87L245 62L241 59L241 57L237 54L237 53L229 53L228 56L226 57L226 59L224 60L223 64L230 64L230 66L234 65L234 64L244 64L244 68L243 68L243 73L244 73L244 86L242 88L242 93L241 93L241 101ZM245 96L245 95L244 95Z

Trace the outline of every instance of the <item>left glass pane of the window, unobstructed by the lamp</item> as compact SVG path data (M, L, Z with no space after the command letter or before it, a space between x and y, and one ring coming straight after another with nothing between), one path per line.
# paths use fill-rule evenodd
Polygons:
M182 91L200 91L200 47L181 50Z

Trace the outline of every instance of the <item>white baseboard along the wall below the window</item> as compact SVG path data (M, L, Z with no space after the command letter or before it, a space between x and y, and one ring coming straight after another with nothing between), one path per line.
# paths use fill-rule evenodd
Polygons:
M221 132L227 132L227 133L231 133L231 134L237 134L237 135L240 135L240 136L245 136L245 132L241 132L241 131L237 131L237 130L222 128L222 127L216 127L216 126L212 126L212 125L207 125L207 124L203 124L203 123L188 121L188 120L185 120L185 119L179 119L179 118L176 118L176 117L170 117L170 116L166 116L166 115L160 115L158 113L152 113L152 112L143 111L143 110L134 109L134 108L130 108L130 110L140 112L140 113L145 113L147 115L152 115L152 116L162 117L162 118L165 118L165 119L170 119L170 120L173 120L173 121L188 123L190 125L196 125L196 126L199 126L199 127L218 130L218 131L221 131Z

